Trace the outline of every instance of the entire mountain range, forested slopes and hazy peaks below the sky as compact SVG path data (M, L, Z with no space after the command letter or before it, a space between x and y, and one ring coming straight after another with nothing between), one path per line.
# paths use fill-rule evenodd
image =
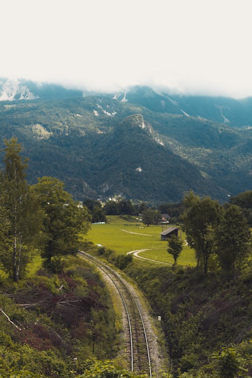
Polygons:
M29 157L28 179L62 179L76 199L226 201L251 188L252 99L133 87L91 94L0 80L0 130Z

